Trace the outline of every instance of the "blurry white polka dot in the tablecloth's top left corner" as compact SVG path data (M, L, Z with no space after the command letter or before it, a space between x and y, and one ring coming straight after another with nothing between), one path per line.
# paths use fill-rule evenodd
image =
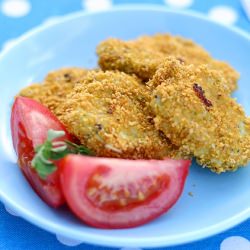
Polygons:
M31 10L28 0L4 0L1 5L1 11L4 15L10 17L22 17Z

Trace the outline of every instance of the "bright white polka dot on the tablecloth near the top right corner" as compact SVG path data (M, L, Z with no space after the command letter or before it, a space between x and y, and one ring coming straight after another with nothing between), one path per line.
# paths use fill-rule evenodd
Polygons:
M214 7L209 11L208 15L214 21L226 25L234 24L238 19L238 13L228 6Z

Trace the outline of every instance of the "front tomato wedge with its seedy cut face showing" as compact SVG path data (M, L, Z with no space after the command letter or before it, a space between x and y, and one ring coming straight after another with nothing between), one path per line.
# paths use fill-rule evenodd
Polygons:
M71 210L98 228L130 228L168 211L180 197L188 160L124 160L68 155L60 179Z

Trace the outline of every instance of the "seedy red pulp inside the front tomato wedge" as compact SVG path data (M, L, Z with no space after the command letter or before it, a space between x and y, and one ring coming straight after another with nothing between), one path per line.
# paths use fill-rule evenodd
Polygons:
M169 176L166 174L142 177L138 183L118 185L115 189L103 183L105 175L110 173L109 168L99 167L90 176L87 182L86 196L92 205L106 211L130 210L139 204L149 202L160 195L169 185Z

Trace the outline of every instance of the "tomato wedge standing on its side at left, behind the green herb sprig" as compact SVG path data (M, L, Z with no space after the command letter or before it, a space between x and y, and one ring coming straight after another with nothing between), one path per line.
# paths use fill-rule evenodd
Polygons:
M42 104L17 97L12 107L11 132L19 166L36 193L50 206L59 207L65 202L59 179L59 172L42 180L31 167L34 148L44 143L49 129L64 130L62 139L72 140L61 122Z

